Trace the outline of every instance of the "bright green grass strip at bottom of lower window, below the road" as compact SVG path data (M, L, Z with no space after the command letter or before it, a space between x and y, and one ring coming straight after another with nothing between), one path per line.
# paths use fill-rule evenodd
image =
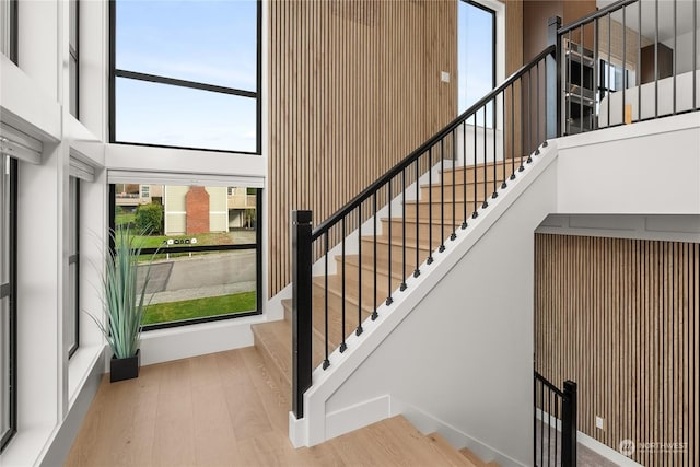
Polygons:
M206 299L149 305L145 308L143 324L152 325L231 313L252 312L256 310L255 295L256 293L253 291L234 293L233 295L209 296Z

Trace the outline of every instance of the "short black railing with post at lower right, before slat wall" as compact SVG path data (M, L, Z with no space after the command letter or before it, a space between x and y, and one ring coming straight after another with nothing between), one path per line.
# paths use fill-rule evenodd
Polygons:
M576 383L565 381L559 389L535 372L534 465L575 467L576 465Z

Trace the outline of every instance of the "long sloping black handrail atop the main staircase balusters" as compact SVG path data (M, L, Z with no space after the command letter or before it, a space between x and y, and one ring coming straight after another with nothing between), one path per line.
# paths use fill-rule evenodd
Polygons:
M340 222L342 218L348 215L354 209L357 209L363 201L368 200L374 192L378 191L384 185L386 185L392 178L399 175L404 170L406 170L409 165L411 165L421 154L424 154L431 147L436 144L440 140L445 138L450 132L454 131L459 125L464 124L467 119L471 118L478 110L480 110L485 105L489 104L493 101L500 93L506 90L509 86L513 85L518 79L523 78L525 73L534 69L539 61L545 59L549 55L556 55L557 47L555 45L550 45L545 50L539 52L535 58L533 58L528 63L521 67L517 71L511 74L500 86L488 93L486 96L480 98L476 104L465 110L457 118L452 120L446 127L435 133L431 139L422 143L418 149L411 152L406 159L392 167L388 172L386 172L383 176L377 178L372 185L366 187L360 195L355 196L350 202L340 208L332 214L330 218L326 219L324 222L318 224L312 232L312 240L317 240L324 233L327 233L330 227Z

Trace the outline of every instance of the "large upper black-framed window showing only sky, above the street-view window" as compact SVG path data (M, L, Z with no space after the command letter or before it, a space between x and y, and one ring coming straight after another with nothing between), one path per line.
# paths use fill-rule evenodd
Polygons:
M259 2L110 4L112 142L259 153Z

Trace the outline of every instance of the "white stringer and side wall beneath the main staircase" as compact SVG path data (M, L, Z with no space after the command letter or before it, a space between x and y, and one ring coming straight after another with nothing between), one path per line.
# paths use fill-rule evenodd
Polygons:
M295 446L412 408L482 452L499 446L490 451L502 465L529 462L534 231L556 212L556 144L540 148L432 265L423 262L343 353L330 354L327 370L314 371L305 417L290 413Z

